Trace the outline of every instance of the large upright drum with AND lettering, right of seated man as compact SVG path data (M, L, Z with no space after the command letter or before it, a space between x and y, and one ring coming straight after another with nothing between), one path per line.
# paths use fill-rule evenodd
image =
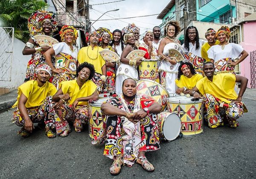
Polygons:
M203 132L203 100L191 100L192 98L179 95L168 98L167 110L180 117L183 136L193 136Z

